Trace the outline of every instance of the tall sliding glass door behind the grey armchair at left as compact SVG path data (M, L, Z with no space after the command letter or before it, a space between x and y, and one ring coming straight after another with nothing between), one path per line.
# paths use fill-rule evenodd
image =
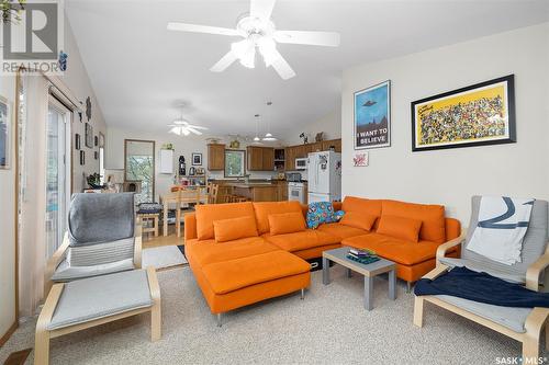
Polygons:
M69 126L71 112L56 100L49 101L46 126L46 258L61 244L66 230L70 186Z

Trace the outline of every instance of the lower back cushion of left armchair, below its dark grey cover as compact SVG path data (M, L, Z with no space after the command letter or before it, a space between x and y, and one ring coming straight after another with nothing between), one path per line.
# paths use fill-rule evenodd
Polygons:
M102 265L134 256L134 237L113 242L75 246L67 249L70 266Z

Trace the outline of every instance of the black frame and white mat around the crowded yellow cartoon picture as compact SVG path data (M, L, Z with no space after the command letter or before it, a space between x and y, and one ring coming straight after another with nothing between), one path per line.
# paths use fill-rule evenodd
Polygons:
M416 136L416 130L418 129L417 126L417 118L416 118L416 112L421 110L421 107L427 106L427 102L436 102L440 101L442 99L446 99L448 96L452 95L460 95L467 92L481 92L483 90L489 89L488 87L497 87L498 84L502 84L503 87L503 95L506 96L503 100L503 105L505 106L506 114L501 117L500 123L505 123L506 127L506 135L502 136L502 138L490 138L490 139L479 139L474 140L475 138L470 138L470 141L467 141L466 139L461 141L456 141L456 142L438 142L438 144L433 144L428 146L421 147L417 144L417 136ZM483 98L485 99L485 98ZM495 99L495 98L494 98ZM459 103L461 104L461 103ZM426 109L428 110L428 107ZM456 89L452 91L444 92L434 96L421 99L417 101L414 101L411 103L411 112L412 112L412 151L413 152L418 152L418 151L430 151L430 150L437 150L437 149L449 149L449 148L464 148L464 147L478 147L478 146L489 146L489 145L504 145L504 144L515 144L516 142L516 114L515 114L515 76L514 75L508 75L504 76L501 78L492 79L489 81L483 81L480 83L475 83L469 87ZM421 111L419 111L421 113ZM506 119L506 122L505 122ZM497 123L497 122L493 122Z

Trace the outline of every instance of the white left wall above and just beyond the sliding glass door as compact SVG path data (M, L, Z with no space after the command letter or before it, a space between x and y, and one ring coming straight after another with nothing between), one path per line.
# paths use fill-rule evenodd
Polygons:
M83 103L82 107L86 110L86 98L91 99L91 119L90 124L93 127L93 135L99 137L101 132L107 134L107 125L103 118L101 109L93 93L88 72L82 64L80 50L72 34L72 30L65 18L65 52L68 54L68 66L65 75L60 80L70 89L72 94ZM79 193L83 187L88 187L83 174L89 175L93 172L99 172L99 159L93 158L93 152L99 152L99 147L86 147L86 113L82 113L82 123L80 123L78 115L75 115L72 123L72 144L75 134L80 135L81 149L86 152L86 164L80 166L80 151L72 148L72 192Z

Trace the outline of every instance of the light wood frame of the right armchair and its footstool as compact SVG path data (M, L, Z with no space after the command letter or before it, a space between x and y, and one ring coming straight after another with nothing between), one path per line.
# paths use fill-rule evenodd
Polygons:
M460 237L441 244L437 250L437 266L427 273L424 278L434 280L446 271L448 271L448 266L440 262L440 259L445 256L446 252L456 246L461 244L466 240L467 228L463 228ZM526 271L526 287L539 292L540 283L539 278L541 273L549 266L549 242L546 247L545 253L534 262L528 270ZM546 278L549 275L545 275ZM441 308L445 308L451 312L455 312L461 317L464 317L469 320L472 320L477 323L480 323L484 327L488 327L494 331L497 331L502 334L505 334L516 341L523 343L523 358L527 358L528 364L538 364L539 361L539 339L541 334L541 330L545 327L546 330L546 350L549 350L549 327L546 326L547 319L549 317L549 308L539 308L536 307L533 309L530 315L526 318L525 329L526 332L515 332L504 326L495 323L489 319L485 319L481 316L474 315L470 311L467 311L460 307L446 303L435 296L425 295L425 296L416 296L414 303L414 324L417 327L423 327L423 313L424 313L424 303L428 301ZM525 361L526 363L526 361Z

